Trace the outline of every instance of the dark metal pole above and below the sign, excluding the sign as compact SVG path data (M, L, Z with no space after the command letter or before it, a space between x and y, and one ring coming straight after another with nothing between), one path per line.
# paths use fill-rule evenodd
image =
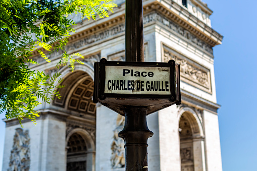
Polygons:
M142 0L126 0L126 62L144 61ZM124 106L125 125L119 137L125 142L125 170L147 171L147 108Z

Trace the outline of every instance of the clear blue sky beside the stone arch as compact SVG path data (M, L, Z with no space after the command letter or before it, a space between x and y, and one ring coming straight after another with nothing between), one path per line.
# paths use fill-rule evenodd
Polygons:
M224 36L214 47L224 171L256 170L257 1L204 0L212 27ZM0 118L4 118L1 115ZM5 124L0 121L0 171Z

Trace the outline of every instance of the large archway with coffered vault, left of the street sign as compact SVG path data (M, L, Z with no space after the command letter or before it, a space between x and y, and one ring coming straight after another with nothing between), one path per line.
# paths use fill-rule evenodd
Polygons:
M65 88L57 90L61 99L55 98L52 103L67 116L67 171L95 170L96 107L92 101L93 79L85 68L77 66L74 72L63 71L66 75L61 85Z

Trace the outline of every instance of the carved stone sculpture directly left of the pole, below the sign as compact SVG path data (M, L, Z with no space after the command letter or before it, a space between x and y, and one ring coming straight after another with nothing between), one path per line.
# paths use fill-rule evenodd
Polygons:
M116 128L114 129L114 136L113 136L113 143L111 146L112 149L112 157L111 157L111 164L112 168L121 168L125 167L125 149L124 149L124 141L123 139L118 137L118 133L124 127L124 117L118 115L116 121Z

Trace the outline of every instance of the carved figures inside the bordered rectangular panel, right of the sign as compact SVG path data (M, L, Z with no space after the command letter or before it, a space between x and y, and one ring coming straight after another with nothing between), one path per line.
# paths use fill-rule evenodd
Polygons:
M208 69L204 71L203 67L196 67L192 62L190 63L188 59L178 56L168 49L164 49L164 62L168 62L169 60L174 60L176 63L180 64L180 74L182 77L211 91Z

